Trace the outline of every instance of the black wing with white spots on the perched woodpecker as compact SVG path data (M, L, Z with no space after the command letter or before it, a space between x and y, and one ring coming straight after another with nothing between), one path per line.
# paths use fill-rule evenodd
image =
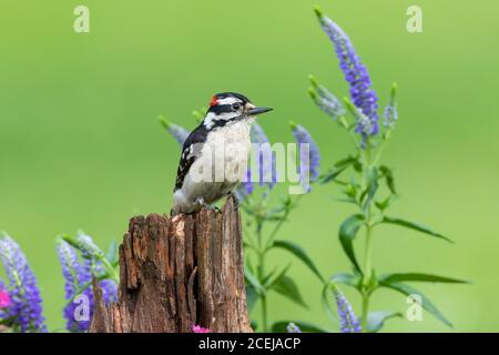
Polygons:
M192 164L195 162L197 156L200 155L202 144L206 142L207 130L201 124L191 134L184 142L182 148L182 155L179 163L179 169L176 171L176 181L175 189L173 192L182 189L184 184L185 176L187 175Z

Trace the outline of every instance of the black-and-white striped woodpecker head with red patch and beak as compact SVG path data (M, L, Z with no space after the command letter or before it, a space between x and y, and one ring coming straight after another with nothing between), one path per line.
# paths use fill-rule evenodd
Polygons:
M223 92L213 95L203 124L207 129L224 126L227 123L253 119L271 111L269 108L257 108L248 98L236 92Z

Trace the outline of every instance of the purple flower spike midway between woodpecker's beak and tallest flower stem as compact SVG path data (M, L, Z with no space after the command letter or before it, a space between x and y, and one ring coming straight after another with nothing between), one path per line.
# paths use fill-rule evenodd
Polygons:
M306 184L308 181L317 180L319 175L320 153L317 144L312 139L312 135L302 125L289 122L293 130L293 135L298 143L299 150L299 179L302 184ZM302 144L308 144L308 152L302 149ZM308 192L309 185L304 186Z

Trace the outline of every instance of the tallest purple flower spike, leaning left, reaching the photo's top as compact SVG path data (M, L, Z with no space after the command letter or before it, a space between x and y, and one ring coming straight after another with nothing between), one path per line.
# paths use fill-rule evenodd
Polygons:
M350 98L354 104L370 120L369 135L378 133L378 98L370 89L371 81L366 67L355 52L354 44L343 29L316 9L323 30L335 45L339 59L339 68L350 87ZM359 129L360 130L360 129Z

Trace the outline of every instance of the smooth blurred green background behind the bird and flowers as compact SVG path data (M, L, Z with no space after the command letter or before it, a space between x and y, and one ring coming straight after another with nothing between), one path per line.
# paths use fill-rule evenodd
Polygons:
M472 281L419 288L455 331L499 331L497 1L2 0L0 230L28 255L52 329L63 327L54 237L83 229L105 246L122 237L132 215L170 210L179 146L159 114L193 128L190 112L213 93L240 91L275 108L261 119L274 142L292 140L287 121L295 120L319 143L324 164L350 151L306 92L314 73L338 95L347 93L316 3L349 33L381 102L390 83L399 83L400 120L385 154L403 192L393 214L456 241L383 227L376 268ZM90 33L73 31L78 4L90 8ZM410 4L422 8L422 33L406 31ZM336 234L352 210L333 202L334 193L316 187L281 233L327 275L348 268ZM274 255L276 264L288 261ZM271 318L327 326L318 282L298 262L292 275L309 310L273 295ZM358 310L356 294L346 293ZM373 298L373 310L406 307L390 291ZM428 313L385 329L449 331Z

